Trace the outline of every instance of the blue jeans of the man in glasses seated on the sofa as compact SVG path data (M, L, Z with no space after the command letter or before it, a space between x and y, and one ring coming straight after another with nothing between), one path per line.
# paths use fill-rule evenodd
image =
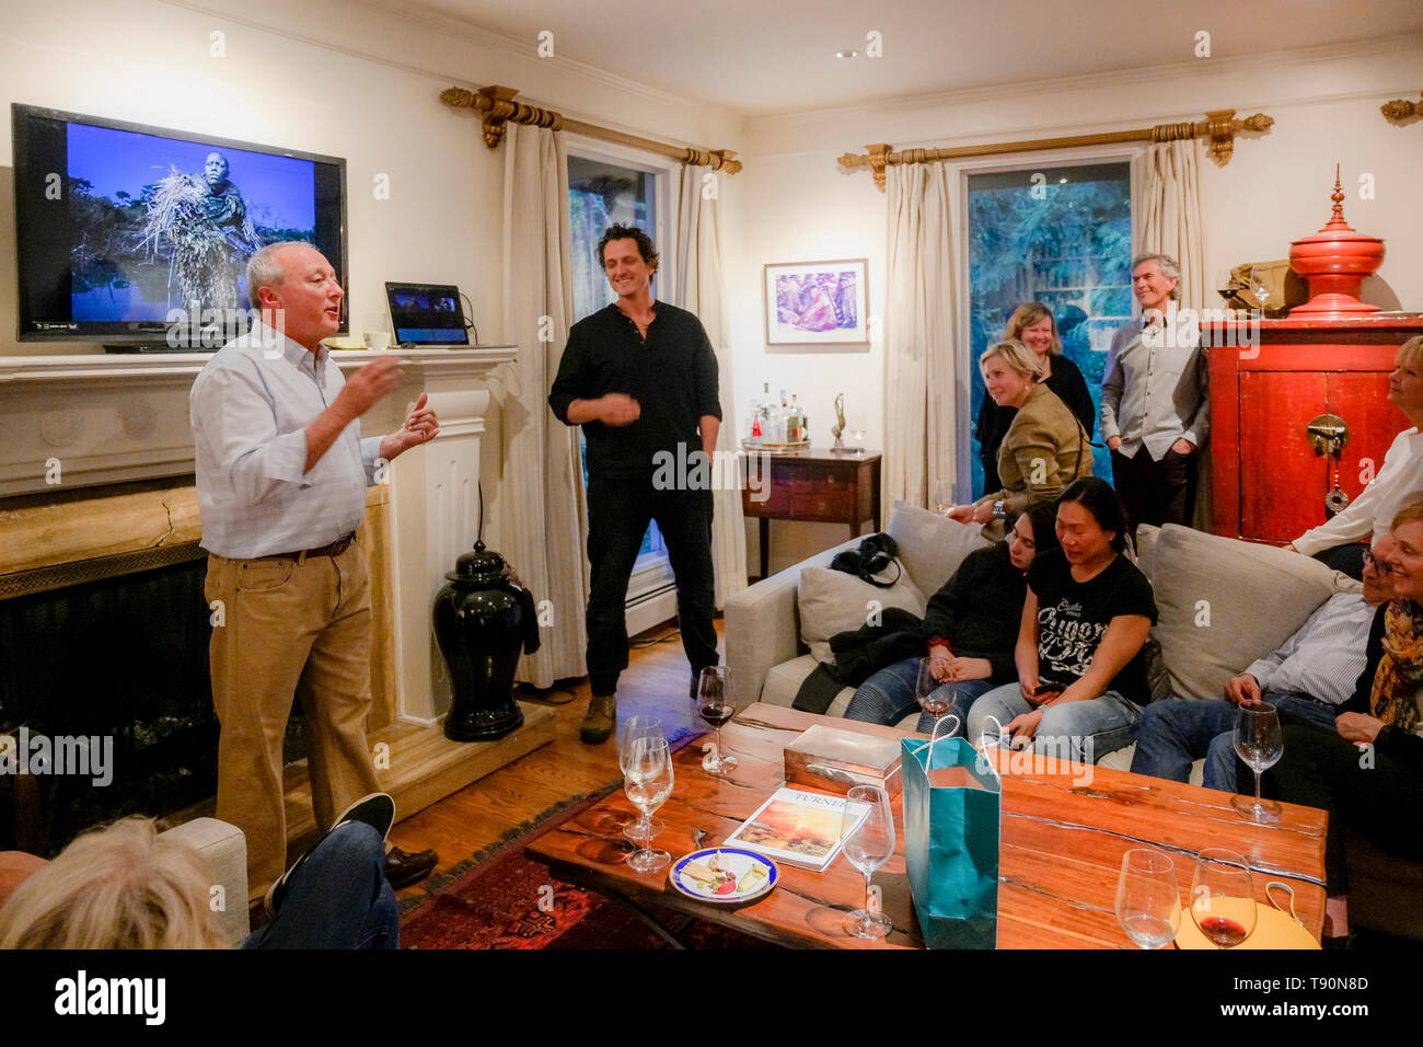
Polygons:
M1321 701L1285 691L1261 694L1275 707L1281 724L1313 724L1333 731L1336 709ZM1237 772L1245 764L1235 755L1235 714L1229 701L1171 698L1153 702L1141 717L1131 773L1185 782L1191 764L1205 756L1201 783L1207 789L1238 792ZM1249 768L1245 766L1249 773Z

